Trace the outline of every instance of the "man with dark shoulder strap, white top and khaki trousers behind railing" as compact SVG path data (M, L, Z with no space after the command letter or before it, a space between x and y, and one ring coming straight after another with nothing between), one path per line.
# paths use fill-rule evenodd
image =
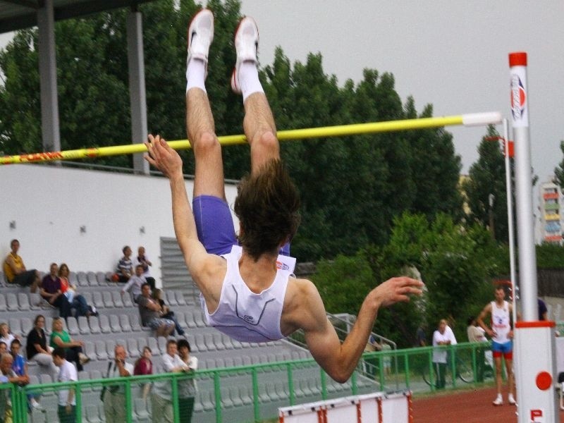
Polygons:
M114 348L114 361L109 362L107 375L109 378L133 376L133 364L125 362L128 357L123 345ZM106 423L125 422L125 386L116 384L106 386L104 392L104 415Z

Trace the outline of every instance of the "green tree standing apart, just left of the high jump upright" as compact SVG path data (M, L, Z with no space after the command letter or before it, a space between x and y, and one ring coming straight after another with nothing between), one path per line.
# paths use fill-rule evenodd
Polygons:
M479 159L470 167L469 178L462 188L468 199L469 219L484 227L490 226L489 198L493 196L491 213L495 239L508 242L507 191L505 188L505 159L499 143L487 138L498 137L493 125L488 126L486 135L478 147ZM491 228L490 228L491 230Z

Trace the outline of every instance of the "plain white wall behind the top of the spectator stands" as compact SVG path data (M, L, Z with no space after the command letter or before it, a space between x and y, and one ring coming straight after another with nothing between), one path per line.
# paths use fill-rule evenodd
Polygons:
M191 180L186 188L191 201ZM229 204L236 193L235 185L226 185ZM124 245L134 255L143 245L160 284L159 240L174 237L168 179L33 164L0 166L0 202L2 260L10 252L10 240L17 238L27 269L47 272L51 262L66 262L71 271L111 271Z

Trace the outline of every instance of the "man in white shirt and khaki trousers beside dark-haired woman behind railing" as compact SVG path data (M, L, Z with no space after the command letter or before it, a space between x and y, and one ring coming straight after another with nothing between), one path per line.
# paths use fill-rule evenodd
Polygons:
M178 356L178 343L174 339L166 343L166 354L162 357L158 373L188 372L190 367ZM151 396L152 415L154 423L173 423L174 412L172 407L171 381L161 381L154 384Z

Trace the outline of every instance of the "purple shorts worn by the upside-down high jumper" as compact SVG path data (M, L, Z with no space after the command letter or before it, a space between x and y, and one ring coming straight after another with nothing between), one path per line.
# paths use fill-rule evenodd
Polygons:
M209 254L223 255L238 245L231 210L227 202L213 195L200 195L192 200L198 239ZM290 255L290 243L280 250L281 255Z

